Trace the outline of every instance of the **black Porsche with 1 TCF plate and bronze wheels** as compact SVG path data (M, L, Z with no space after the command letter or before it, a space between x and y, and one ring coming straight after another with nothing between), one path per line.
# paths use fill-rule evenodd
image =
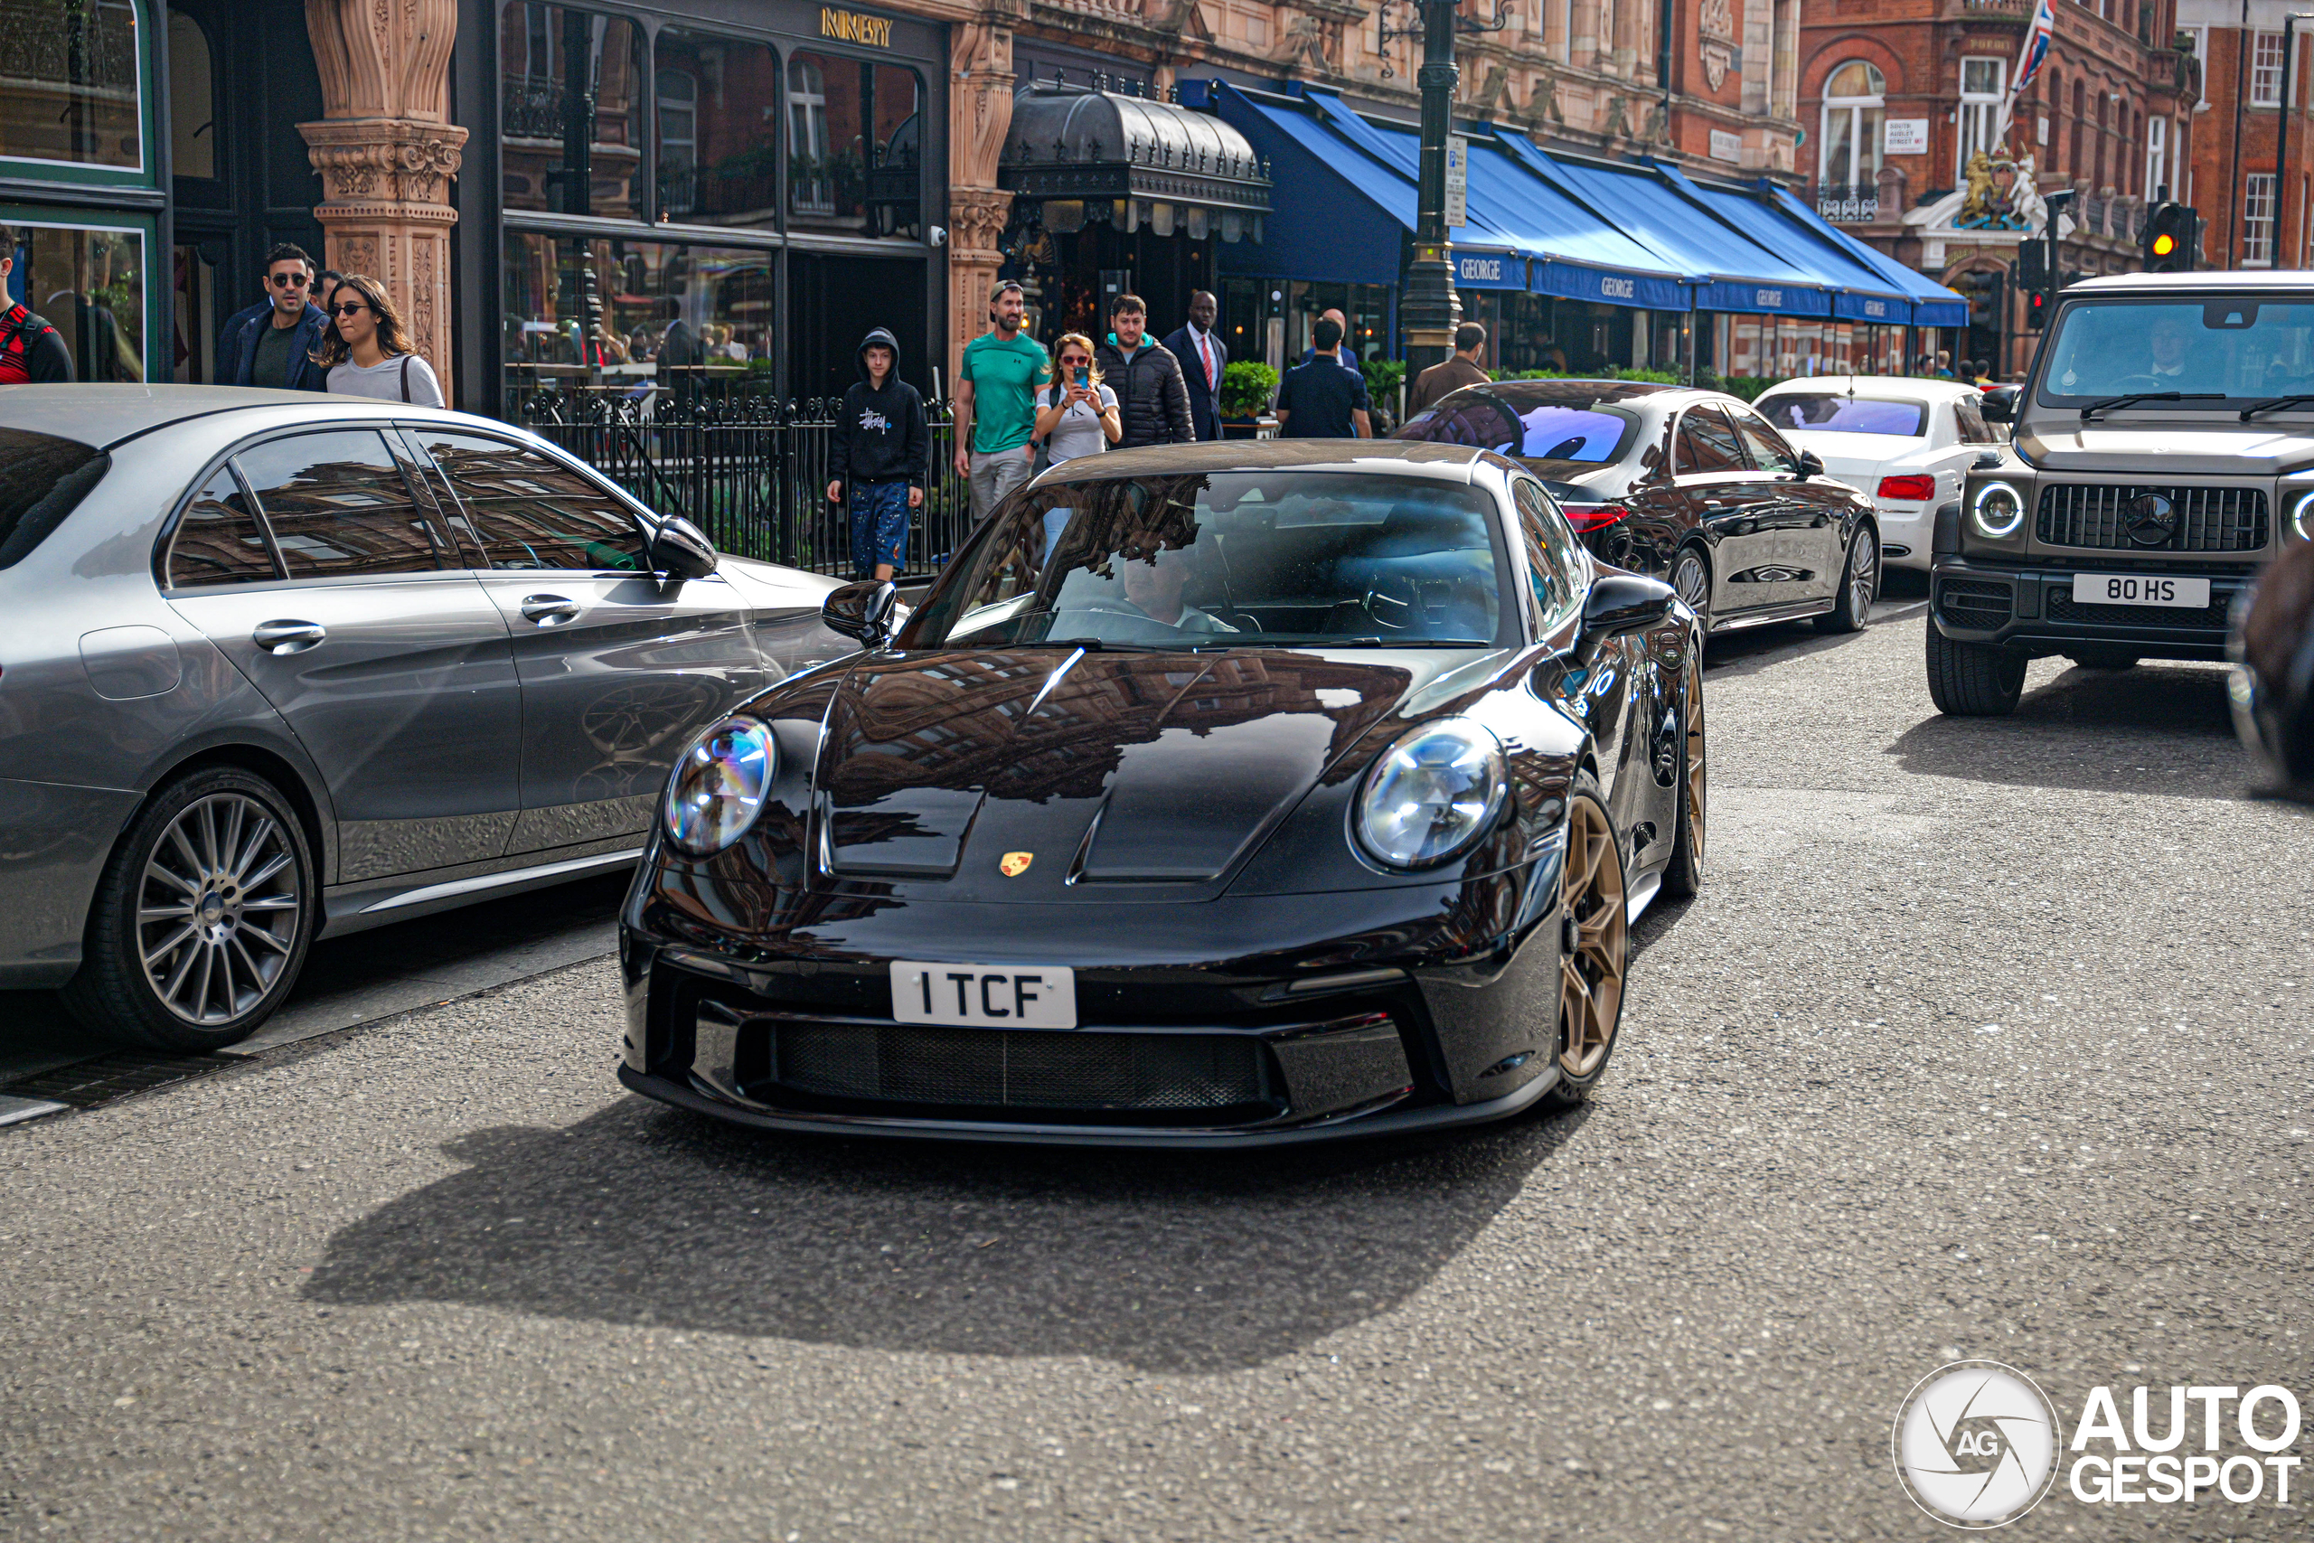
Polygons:
M685 750L620 1080L745 1124L1261 1145L1583 1099L1703 874L1701 629L1523 467L1088 456Z

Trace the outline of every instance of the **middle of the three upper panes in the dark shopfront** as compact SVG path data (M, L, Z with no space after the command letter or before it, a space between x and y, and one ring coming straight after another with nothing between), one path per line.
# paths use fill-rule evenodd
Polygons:
M780 213L780 60L764 44L659 32L659 213L771 227Z

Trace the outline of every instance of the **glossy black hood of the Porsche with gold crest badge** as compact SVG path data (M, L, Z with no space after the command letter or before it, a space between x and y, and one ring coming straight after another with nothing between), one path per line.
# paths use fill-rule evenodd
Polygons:
M926 900L1076 881L1217 895L1462 650L958 650L854 666L815 775L824 861ZM1347 770L1344 770L1347 775ZM1034 854L1020 874L1000 858ZM1180 886L1196 886L1185 893Z

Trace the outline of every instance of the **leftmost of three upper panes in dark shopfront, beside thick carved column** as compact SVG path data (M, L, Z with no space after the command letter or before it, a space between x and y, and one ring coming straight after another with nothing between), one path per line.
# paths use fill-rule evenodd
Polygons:
M641 30L516 0L498 35L504 206L641 220Z

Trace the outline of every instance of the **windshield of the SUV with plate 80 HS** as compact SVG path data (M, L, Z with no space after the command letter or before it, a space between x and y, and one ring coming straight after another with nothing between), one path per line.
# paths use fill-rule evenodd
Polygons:
M2041 405L2166 391L2203 398L2173 412L2314 391L2314 296L2073 301L2057 317Z

